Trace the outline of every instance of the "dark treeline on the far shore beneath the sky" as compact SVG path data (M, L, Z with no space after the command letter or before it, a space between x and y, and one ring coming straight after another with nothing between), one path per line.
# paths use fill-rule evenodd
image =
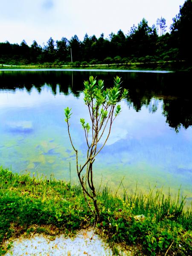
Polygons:
M50 37L43 47L36 41L30 47L25 40L20 45L6 41L0 43L0 64L67 65L71 63L71 52L76 65L169 60L186 60L191 63L191 28L192 0L186 0L180 6L179 14L173 18L170 33L165 33L166 20L161 17L151 27L143 18L137 26L131 27L127 35L120 29L117 34L112 32L109 38L104 38L103 33L99 38L86 34L83 41L77 35L70 40L63 37L60 41Z

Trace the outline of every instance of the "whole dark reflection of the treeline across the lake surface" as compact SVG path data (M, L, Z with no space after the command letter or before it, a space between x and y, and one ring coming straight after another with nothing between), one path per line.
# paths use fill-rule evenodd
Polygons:
M47 85L53 95L69 92L79 97L84 80L90 75L105 80L105 86L113 85L113 76L122 77L122 85L129 90L127 104L139 112L146 106L150 113L157 111L159 99L163 99L163 115L175 131L192 125L190 74L110 73L98 71L3 71L0 72L0 89L26 88L30 93L36 88L40 93ZM182 88L181 86L182 85Z

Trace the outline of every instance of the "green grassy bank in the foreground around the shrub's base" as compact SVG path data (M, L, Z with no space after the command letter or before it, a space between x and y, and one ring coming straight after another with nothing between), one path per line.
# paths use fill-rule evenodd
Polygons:
M97 231L113 247L132 250L132 255L191 255L192 209L184 202L164 197L124 193L121 199L108 188L98 193L101 219ZM91 202L90 206L91 206ZM91 206L93 207L93 206ZM0 255L11 246L8 238L45 233L74 234L95 225L94 215L84 200L81 187L53 177L13 174L0 167Z

